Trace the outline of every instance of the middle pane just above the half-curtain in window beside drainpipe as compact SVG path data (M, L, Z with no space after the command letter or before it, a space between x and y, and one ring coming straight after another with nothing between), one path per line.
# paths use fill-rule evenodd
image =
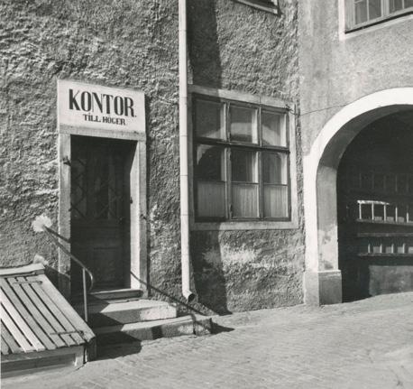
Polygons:
M257 153L244 150L231 151L232 181L258 182Z

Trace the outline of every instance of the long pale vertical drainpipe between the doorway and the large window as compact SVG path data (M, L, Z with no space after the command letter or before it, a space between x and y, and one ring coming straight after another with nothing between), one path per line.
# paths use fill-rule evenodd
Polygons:
M192 301L189 264L187 0L179 0L179 175L182 294Z

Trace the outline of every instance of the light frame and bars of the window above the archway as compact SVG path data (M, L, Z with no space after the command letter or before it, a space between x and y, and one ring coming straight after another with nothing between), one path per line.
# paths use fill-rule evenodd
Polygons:
M404 0L402 0L404 2ZM368 7L367 7L368 8ZM392 19L407 14L413 14L413 6L401 9L399 11L390 12L390 0L381 0L381 16L372 20L367 20L363 23L355 23L355 0L344 0L344 18L345 27L344 32L354 32L362 30L363 28L384 23Z

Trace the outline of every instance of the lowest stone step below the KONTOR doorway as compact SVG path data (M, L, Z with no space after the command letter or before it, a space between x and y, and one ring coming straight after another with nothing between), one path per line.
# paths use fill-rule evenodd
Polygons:
M142 321L94 329L98 346L128 343L138 340L172 338L181 335L207 335L212 330L212 320L206 316L191 315L174 319Z

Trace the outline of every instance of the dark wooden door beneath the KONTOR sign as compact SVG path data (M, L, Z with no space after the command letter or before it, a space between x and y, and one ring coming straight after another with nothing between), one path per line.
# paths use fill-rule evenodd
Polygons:
M71 250L94 274L96 290L122 288L130 266L131 145L73 136L71 147ZM72 263L74 294L80 274Z

